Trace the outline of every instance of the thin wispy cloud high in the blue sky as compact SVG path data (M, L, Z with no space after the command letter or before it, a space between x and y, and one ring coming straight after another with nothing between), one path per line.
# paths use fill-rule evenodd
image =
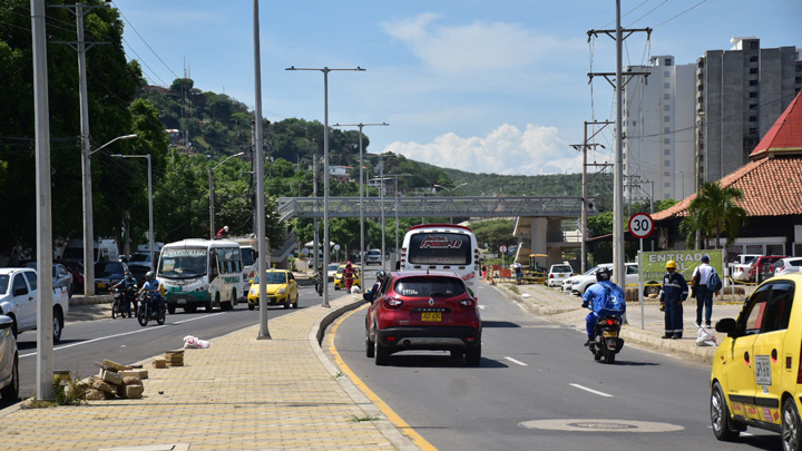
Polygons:
M547 56L583 50L581 39L559 40L517 23L473 22L436 26L439 14L383 22L384 32L407 45L423 63L441 73L529 67Z

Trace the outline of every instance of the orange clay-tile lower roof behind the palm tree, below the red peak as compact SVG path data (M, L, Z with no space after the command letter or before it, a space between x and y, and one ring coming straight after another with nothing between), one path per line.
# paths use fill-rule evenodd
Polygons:
M749 216L802 215L802 156L762 158L747 163L718 180L722 187L739 188L744 198L737 204ZM687 216L696 194L652 217L663 220Z

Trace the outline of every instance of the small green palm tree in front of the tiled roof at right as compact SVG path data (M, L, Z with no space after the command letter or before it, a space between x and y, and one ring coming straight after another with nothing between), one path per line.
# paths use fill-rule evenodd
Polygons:
M679 224L679 231L688 243L698 233L703 238L714 237L716 249L722 234L730 244L739 236L746 219L746 210L737 205L743 197L741 189L722 187L718 182L704 184L688 205L688 216Z

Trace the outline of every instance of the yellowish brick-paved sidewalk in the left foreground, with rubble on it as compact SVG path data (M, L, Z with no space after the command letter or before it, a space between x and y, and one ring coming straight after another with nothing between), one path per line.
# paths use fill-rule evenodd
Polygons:
M3 449L417 450L320 350L320 331L361 300L331 304L270 321L273 340L255 325L186 350L186 366L146 364L140 400L8 408Z

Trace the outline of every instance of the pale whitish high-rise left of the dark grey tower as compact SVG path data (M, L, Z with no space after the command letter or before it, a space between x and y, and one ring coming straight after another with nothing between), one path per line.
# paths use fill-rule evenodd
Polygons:
M624 87L624 173L627 198L682 199L694 193L695 65L675 65L673 56L656 56L649 66L627 70ZM653 187L646 188L646 183Z

